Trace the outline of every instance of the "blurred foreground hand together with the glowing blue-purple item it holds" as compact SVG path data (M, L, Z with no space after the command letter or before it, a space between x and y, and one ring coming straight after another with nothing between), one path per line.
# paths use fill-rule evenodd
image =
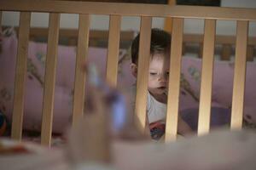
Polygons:
M130 133L124 96L102 81L95 65L85 65L84 70L89 94L84 117L69 132L67 158L75 169L113 169L111 141L143 135Z

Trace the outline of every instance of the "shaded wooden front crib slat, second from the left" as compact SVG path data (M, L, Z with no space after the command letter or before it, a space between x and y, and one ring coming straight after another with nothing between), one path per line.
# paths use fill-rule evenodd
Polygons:
M57 60L57 47L59 38L61 14L49 14L49 35L44 76L44 103L42 116L41 144L49 145L52 132L54 94L55 94L55 69Z

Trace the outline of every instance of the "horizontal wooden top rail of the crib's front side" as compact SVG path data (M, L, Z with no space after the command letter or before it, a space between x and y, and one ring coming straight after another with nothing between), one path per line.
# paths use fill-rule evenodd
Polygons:
M27 5L29 4L29 5ZM256 20L253 8L170 6L134 3L93 3L76 1L2 0L0 10L55 12L67 14L118 14L215 20Z

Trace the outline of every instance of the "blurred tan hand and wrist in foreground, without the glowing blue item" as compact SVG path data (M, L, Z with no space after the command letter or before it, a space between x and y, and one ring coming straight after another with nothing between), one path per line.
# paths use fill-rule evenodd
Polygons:
M99 169L100 165L108 167L111 161L109 107L103 98L102 92L91 87L84 118L69 134L67 156L75 169Z

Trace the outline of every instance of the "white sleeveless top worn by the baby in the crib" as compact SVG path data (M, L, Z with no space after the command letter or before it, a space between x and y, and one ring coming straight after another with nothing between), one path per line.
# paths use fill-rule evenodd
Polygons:
M135 97L136 97L136 85L133 85L131 88L131 109L135 108ZM129 102L130 103L130 102ZM158 121L165 121L166 120L166 110L167 105L161 103L154 99L154 97L149 94L147 97L147 113L148 113L148 122L158 122Z

